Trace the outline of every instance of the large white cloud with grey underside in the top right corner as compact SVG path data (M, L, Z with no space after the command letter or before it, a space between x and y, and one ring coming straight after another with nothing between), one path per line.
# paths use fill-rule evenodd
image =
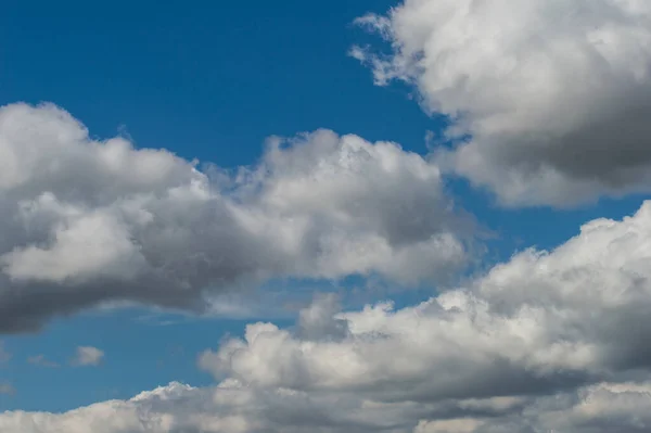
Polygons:
M358 24L375 81L413 85L464 138L436 160L509 206L651 191L651 3L405 0Z

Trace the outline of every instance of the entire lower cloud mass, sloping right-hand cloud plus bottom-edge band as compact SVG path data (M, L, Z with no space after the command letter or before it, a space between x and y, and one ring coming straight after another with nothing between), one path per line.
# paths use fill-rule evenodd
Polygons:
M173 383L63 415L7 412L0 430L649 431L650 317L646 202L417 306L342 311L323 295L292 329L252 323L244 339L201 355L218 386Z

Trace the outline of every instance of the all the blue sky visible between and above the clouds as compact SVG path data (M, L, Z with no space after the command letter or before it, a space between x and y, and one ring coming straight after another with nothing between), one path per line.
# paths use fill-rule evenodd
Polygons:
M139 148L165 148L221 167L255 164L269 136L318 128L395 141L424 155L426 132L439 131L441 119L421 110L412 88L373 86L370 71L347 55L353 44L379 43L353 20L392 5L385 0L10 1L0 15L0 104L50 101L94 137L126 133ZM577 234L584 221L622 218L641 202L640 195L628 195L565 211L508 209L465 180L450 178L447 186L497 233L486 241L484 266L526 246L553 247ZM306 286L336 290L345 282L268 285L292 298ZM400 305L434 291L383 296ZM0 394L0 410L63 411L128 398L173 380L213 383L196 368L197 354L216 347L226 333L241 334L252 321L181 315L148 320L151 314L90 310L58 318L37 333L8 335L4 349L12 357L0 379L16 393ZM272 318L291 323L293 314ZM263 309L254 319L269 317ZM102 365L69 366L80 345L104 351ZM61 366L27 362L41 354Z

